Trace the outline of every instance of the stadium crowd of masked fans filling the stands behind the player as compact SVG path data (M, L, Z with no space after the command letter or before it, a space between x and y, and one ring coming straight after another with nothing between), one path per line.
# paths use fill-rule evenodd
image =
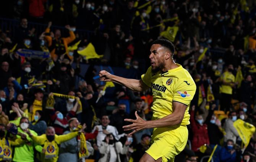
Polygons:
M104 95L110 88L95 79L95 67L122 67L139 79L159 38L175 44L173 59L197 85L188 147L175 161L207 160L212 151L214 162L256 161L256 134L245 147L234 126L256 124L256 1L8 0L0 16L20 21L0 31L1 161L138 162L152 130L129 136L122 127L135 111L151 119L152 92L115 85ZM90 44L89 59L78 51Z

